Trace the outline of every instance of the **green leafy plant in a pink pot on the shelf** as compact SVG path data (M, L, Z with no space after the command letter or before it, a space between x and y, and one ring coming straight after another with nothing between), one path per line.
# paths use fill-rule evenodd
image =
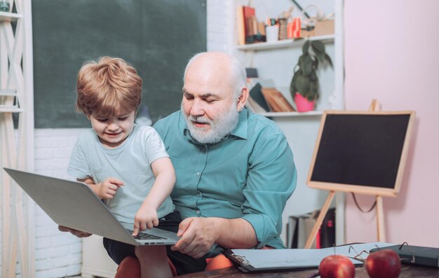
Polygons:
M325 63L332 67L331 58L325 52L325 44L321 41L306 41L294 68L290 85L297 111L306 112L314 109L314 102L320 93L317 70L320 64Z

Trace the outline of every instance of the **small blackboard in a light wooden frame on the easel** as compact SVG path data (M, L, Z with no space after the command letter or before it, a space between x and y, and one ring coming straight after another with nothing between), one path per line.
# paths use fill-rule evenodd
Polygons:
M413 120L413 111L325 111L307 184L395 197Z

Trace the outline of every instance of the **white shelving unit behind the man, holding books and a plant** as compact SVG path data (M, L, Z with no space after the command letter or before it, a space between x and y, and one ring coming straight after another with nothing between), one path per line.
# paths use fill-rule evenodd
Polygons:
M285 207L283 223L288 222L288 216L304 214L309 211L320 209L327 193L323 190L313 190L306 186L311 155L316 143L318 127L320 127L321 115L325 110L344 109L344 55L343 55L343 1L310 1L301 2L305 7L308 4L326 6L326 14L335 13L335 34L325 36L311 36L309 40L319 40L325 43L328 55L332 59L332 69L320 69L320 98L316 103L316 111L305 113L299 112L267 112L263 116L273 119L285 133L293 153L297 166L298 180L295 193ZM308 4L307 4L308 3ZM236 0L236 5L246 5L245 1ZM332 6L333 5L333 6ZM270 6L266 2L252 1L252 7L259 15L273 17L281 11L287 11L292 6L291 1L276 1ZM276 9L277 8L277 9ZM328 11L331 10L331 11ZM236 11L236 8L235 8ZM263 20L259 16L258 20ZM234 55L238 57L245 67L255 67L259 78L270 78L285 98L291 103L292 97L289 92L293 69L297 64L299 55L302 54L302 46L306 39L288 39L273 43L253 43L243 46L234 46ZM337 193L338 194L338 193ZM337 244L344 243L344 194L336 196L337 208ZM283 230L285 240L285 230Z

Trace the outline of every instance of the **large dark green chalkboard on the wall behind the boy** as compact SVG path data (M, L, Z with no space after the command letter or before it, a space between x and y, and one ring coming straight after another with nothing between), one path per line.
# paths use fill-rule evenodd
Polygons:
M143 79L153 120L180 109L189 57L206 50L205 0L32 1L36 128L89 127L74 109L86 60L121 57Z

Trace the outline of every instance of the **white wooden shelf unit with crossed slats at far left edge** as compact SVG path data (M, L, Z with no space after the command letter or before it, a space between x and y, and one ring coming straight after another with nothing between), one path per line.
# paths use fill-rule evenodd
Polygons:
M32 5L9 4L8 12L0 11L0 277L32 278L34 203L2 169L34 165Z

